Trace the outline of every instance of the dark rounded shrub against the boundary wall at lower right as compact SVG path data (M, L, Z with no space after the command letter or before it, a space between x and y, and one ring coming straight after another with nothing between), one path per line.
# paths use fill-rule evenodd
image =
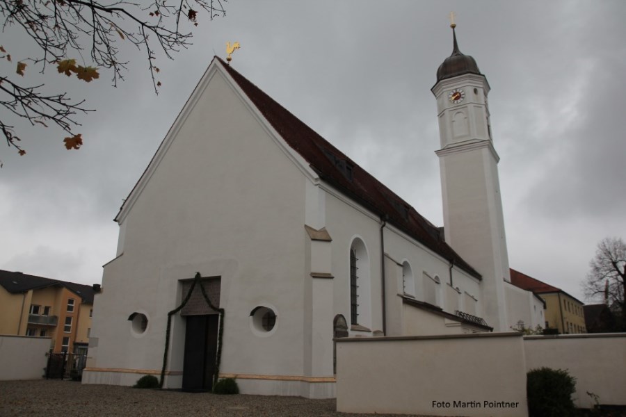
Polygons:
M567 370L532 369L527 374L526 390L530 417L569 416L574 410L576 378Z

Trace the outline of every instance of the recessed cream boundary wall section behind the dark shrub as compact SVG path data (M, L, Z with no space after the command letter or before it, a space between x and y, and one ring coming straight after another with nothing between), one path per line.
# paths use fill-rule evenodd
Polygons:
M527 370L567 369L576 378L576 407L626 405L626 334L564 334L524 337Z

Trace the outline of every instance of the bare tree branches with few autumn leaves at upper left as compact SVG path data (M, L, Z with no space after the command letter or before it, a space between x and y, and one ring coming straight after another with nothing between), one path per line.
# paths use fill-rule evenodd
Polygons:
M154 91L158 93L161 83L157 80L160 70L154 65L155 49L171 59L175 52L191 44L191 31L182 31L181 17L197 26L198 10L208 13L212 20L225 15L225 1L181 0L169 5L166 0L3 0L0 1L0 19L3 19L0 25L4 32L22 31L35 42L41 54L29 60L40 66L40 72L45 72L47 65L58 66L79 58L82 65L77 65L74 71L79 78L79 73L86 70L89 76L81 79L90 81L97 78L96 67L105 68L111 70L114 86L124 79L127 70L127 62L120 59L120 47L132 44L145 51ZM83 56L86 51L88 56ZM0 49L0 52L5 51ZM0 60L9 62L10 54L0 56ZM61 67L58 70L71 74ZM23 87L11 77L15 77L12 71L3 70L0 74L3 94L0 106L31 124L51 122L72 133L72 126L79 125L73 116L77 111L88 111L81 107L83 101L71 103L65 93L44 95L42 85ZM5 113L0 116L0 131L8 145L22 153L17 145L20 139L15 134L15 126L6 117Z

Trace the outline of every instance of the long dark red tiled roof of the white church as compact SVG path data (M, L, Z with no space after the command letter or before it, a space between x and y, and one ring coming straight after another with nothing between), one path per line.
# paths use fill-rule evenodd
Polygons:
M284 141L305 158L323 181L387 220L394 227L415 238L444 259L454 262L458 268L462 268L473 277L481 279L479 272L474 270L442 240L438 227L417 213L415 208L301 122L298 117L266 95L246 77L236 72L222 59L218 57L214 59L219 60L250 101L273 128L280 133Z

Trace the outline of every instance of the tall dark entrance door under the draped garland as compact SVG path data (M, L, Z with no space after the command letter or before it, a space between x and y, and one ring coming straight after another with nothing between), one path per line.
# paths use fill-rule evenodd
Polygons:
M219 316L186 316L182 390L213 389Z

